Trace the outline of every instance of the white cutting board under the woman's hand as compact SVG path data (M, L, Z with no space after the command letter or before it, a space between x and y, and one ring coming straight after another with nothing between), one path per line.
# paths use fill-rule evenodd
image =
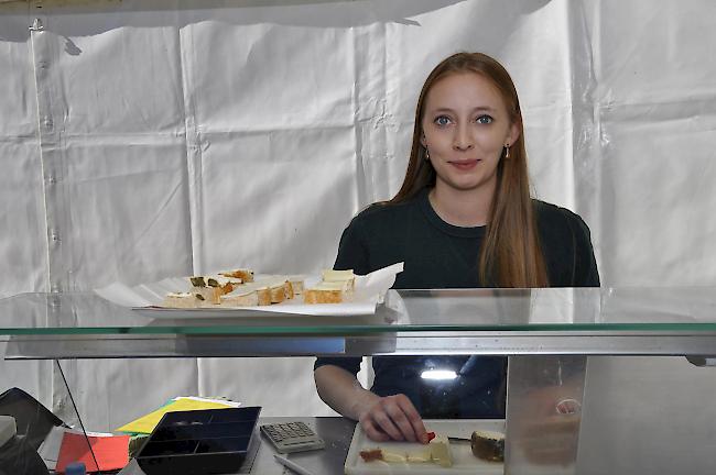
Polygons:
M505 420L457 419L457 420L425 420L425 428L441 435L467 438L476 430L505 432ZM392 474L465 474L465 475L499 475L503 473L501 462L487 462L473 455L469 442L451 442L453 466L442 467L434 463L388 463L383 461L364 462L360 451L383 448L391 452L417 451L422 444L416 442L373 442L366 437L360 424L356 424L352 441L346 457L346 475L392 475Z

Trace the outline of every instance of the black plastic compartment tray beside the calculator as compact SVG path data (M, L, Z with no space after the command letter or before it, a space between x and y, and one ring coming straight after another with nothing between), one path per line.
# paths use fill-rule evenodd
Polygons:
M148 475L236 473L251 444L260 407L167 412L137 463Z

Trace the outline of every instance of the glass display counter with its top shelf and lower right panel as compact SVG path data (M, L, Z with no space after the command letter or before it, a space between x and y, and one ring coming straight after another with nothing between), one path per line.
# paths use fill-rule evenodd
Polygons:
M508 355L507 473L716 465L716 402L669 385L716 355L709 287L391 290L360 317L132 310L94 294L25 294L0 300L0 341L8 360ZM679 358L685 366L664 373L662 394L633 397L606 376L616 356L693 364Z

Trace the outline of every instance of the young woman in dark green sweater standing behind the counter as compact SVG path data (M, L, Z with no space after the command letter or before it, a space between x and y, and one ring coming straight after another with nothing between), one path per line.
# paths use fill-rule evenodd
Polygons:
M458 53L427 77L415 112L408 172L395 197L344 231L335 268L367 274L404 262L394 288L599 286L589 230L563 208L530 198L522 114L507 70ZM321 398L377 441L427 441L422 417L505 416L503 357L318 358ZM434 385L426 368L458 377Z

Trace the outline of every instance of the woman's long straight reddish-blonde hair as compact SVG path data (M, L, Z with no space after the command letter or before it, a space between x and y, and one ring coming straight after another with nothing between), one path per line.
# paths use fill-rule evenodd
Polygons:
M520 130L519 137L510 147L509 157L503 154L498 164L497 186L479 257L479 279L482 285L493 287L547 287L550 284L530 197L520 102L509 73L490 56L457 53L444 59L427 76L415 109L413 144L405 179L387 205L406 201L425 187L435 186L435 169L425 159L425 147L421 143L425 98L435 82L460 73L476 73L492 82L502 96L510 121Z

